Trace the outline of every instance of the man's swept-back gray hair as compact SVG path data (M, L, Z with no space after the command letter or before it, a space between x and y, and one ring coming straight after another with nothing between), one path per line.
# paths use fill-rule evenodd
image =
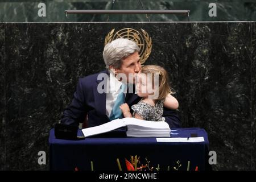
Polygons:
M110 65L117 69L121 68L122 59L136 51L139 52L139 47L132 40L123 38L113 40L104 47L103 59L106 68L109 69Z

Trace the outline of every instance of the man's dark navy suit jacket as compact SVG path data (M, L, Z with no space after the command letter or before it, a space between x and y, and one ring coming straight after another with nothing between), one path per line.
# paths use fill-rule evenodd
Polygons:
M100 73L109 74L107 70ZM98 93L98 84L103 80L97 80L100 73L80 78L77 84L71 104L64 110L61 123L66 125L78 126L79 122L84 122L88 114L88 127L102 125L109 122L110 119L106 115L106 93ZM127 93L125 102L131 106L137 104L141 100L137 94ZM132 110L131 110L132 111ZM180 119L175 110L164 108L163 117L170 127L180 127Z

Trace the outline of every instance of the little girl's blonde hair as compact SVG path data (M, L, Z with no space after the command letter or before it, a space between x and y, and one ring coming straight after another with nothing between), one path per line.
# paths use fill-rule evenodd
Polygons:
M175 92L172 92L170 84L169 84L169 78L168 73L163 67L160 67L158 65L145 65L141 68L141 73L152 74L152 85L154 85L154 76L155 74L159 75L159 94L158 98L156 100L164 100L168 94L172 94Z

